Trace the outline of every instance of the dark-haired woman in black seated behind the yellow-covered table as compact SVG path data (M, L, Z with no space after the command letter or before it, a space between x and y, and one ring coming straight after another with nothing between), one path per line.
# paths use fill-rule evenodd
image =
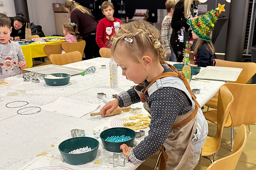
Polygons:
M14 41L25 39L25 23L26 19L22 13L17 14L15 17L9 17L11 19L11 35Z

